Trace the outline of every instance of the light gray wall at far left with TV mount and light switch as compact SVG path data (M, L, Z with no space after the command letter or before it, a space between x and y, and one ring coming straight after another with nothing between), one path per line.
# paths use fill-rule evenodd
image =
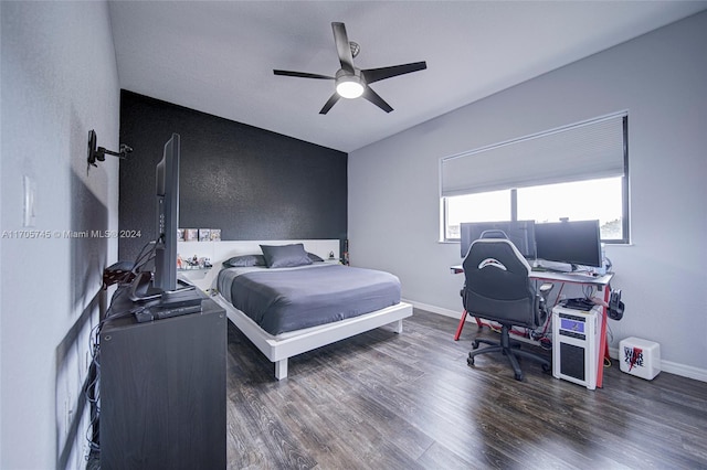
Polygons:
M55 232L117 228L117 159L86 170L89 129L98 145L118 147L108 8L0 4L0 468L82 468L88 337L117 243ZM36 185L33 227L22 226L25 175ZM49 231L49 237L19 239L14 231Z

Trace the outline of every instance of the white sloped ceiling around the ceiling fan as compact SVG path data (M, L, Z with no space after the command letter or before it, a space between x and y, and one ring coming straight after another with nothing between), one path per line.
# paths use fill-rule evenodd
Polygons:
M705 1L110 1L122 88L350 152L707 9ZM319 109L334 75L331 22L374 68L428 70Z

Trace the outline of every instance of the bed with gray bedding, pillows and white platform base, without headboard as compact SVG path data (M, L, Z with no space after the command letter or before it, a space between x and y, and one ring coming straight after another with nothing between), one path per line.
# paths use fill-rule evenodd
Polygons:
M261 248L223 261L214 300L275 364L277 380L294 355L390 323L401 333L412 314L389 273L342 266L303 244Z

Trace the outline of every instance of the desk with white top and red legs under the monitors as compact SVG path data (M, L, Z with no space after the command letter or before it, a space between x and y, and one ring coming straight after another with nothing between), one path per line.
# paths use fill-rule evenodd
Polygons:
M462 265L452 266L450 269L452 274L464 273L464 267ZM603 328L601 329L601 332L600 332L599 350L604 351L604 357L609 357L609 345L606 344L606 311L609 306L609 299L611 296L610 282L611 282L611 279L614 277L613 273L609 273L603 276L590 276L590 275L580 275L580 274L572 274L572 273L553 273L553 271L532 270L530 271L529 277L530 279L544 280L549 282L576 284L581 286L590 286L592 288L595 288L598 291L603 291L603 298L602 298L602 300L604 301L604 306L602 309ZM464 310L464 312L462 313L462 318L460 320L460 324L456 328L456 333L454 334L454 341L457 341L460 339L460 335L462 334L462 329L464 328L466 316L467 316L467 312L466 310ZM482 327L483 324L478 319L476 319L476 323L479 327ZM597 386L601 388L602 382L603 382L603 372L604 372L603 362L601 364L598 364L598 368L599 370L597 371Z

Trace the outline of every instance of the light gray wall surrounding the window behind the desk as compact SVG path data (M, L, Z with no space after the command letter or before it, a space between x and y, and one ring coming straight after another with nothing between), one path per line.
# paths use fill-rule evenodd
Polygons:
M610 345L656 341L664 370L707 381L706 44L703 12L350 153L351 264L458 316L460 247L439 243L440 158L629 110L633 243L606 248L626 303Z

